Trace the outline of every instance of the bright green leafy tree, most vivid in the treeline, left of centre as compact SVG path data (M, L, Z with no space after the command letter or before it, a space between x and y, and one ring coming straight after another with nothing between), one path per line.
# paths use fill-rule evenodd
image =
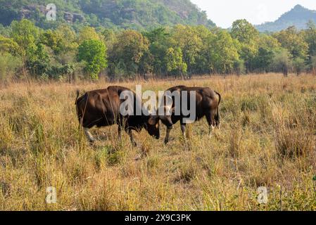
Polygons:
M101 70L107 67L105 44L94 39L83 41L78 49L77 60L85 62L84 70L92 79L98 79Z

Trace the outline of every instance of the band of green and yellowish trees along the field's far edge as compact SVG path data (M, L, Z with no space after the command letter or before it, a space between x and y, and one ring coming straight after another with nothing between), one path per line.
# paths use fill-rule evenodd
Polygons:
M246 20L232 29L175 25L152 30L63 23L42 29L30 20L0 28L1 80L182 77L315 72L316 26L258 32Z

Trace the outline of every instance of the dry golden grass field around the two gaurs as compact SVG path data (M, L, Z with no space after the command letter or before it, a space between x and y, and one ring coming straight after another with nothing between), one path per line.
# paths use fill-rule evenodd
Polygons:
M316 77L247 75L128 82L143 91L209 86L222 94L221 129L177 124L172 140L117 127L78 129L76 89L87 84L6 84L0 89L0 210L316 210ZM139 154L145 155L135 160ZM46 203L46 188L57 203ZM258 187L268 203L257 201Z

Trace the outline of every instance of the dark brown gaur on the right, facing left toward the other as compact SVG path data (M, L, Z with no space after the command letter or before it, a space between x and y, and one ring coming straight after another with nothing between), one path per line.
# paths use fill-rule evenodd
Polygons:
M180 96L180 103L177 104L180 109L182 108L182 91L187 91L187 99L184 99L184 101L187 101L187 105L189 106L190 101L190 92L196 91L196 119L195 121L201 120L203 117L206 117L206 120L208 121L209 126L209 135L212 135L212 131L215 127L220 127L220 112L219 112L219 105L221 101L221 96L217 91L213 91L212 89L206 87L187 87L187 86L174 86L167 91L170 91L173 93L174 91L177 91ZM167 92L166 91L166 92ZM165 104L165 103L164 103ZM165 107L165 105L163 105ZM177 111L175 109L175 97L172 96L172 114L170 116L164 115L164 116L158 116L159 120L165 124L167 127L167 134L165 136L165 143L167 144L169 142L169 136L170 131L173 128L173 125L180 121L181 123L181 130L182 134L184 135L184 138L186 137L186 124L184 123L183 119L186 118L182 110L179 110L181 112L180 115L175 115L175 112Z

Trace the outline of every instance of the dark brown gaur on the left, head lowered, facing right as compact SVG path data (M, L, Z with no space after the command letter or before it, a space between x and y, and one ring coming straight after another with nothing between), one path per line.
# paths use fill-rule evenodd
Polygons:
M144 115L141 110L141 115L122 116L120 113L120 105L125 99L120 99L123 91L131 91L134 95L134 112L137 112L136 94L122 86L109 86L107 89L89 91L83 96L80 96L80 91L77 91L77 99L75 102L77 108L77 116L80 124L84 128L84 133L90 142L94 142L94 137L89 132L92 127L107 127L118 124L118 134L121 137L122 128L125 129L136 146L132 131L141 131L146 129L148 134L156 139L160 138L159 120L150 115Z

